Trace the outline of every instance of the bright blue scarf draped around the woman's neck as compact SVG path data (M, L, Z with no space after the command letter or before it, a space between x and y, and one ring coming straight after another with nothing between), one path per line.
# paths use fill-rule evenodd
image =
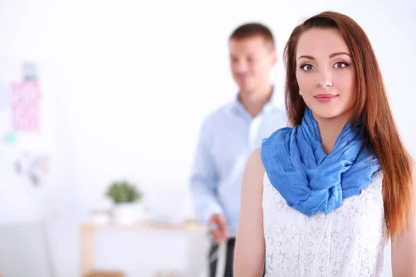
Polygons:
M306 107L300 125L278 129L263 141L264 168L288 206L309 217L329 213L371 184L380 165L374 151L363 145L361 125L359 120L353 130L348 122L327 154L318 123Z

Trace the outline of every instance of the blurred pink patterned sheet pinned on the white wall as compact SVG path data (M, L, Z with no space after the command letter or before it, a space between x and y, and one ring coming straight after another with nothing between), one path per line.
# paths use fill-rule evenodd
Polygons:
M40 89L36 81L12 84L12 127L15 131L40 130Z

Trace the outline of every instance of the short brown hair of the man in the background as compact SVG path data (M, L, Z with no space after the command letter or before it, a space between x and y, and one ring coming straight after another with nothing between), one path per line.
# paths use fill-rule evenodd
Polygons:
M263 37L265 42L270 43L273 49L275 48L275 39L273 38L272 32L260 23L248 23L239 26L232 32L229 39L248 39L257 36Z

